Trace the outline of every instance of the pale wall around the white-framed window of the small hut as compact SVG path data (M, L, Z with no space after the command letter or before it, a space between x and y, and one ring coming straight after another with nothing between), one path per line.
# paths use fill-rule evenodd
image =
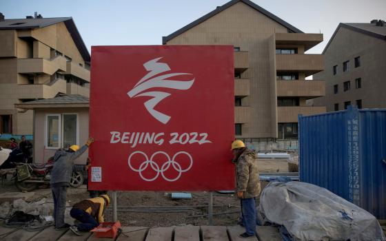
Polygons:
M34 110L34 162L45 163L50 156L54 156L56 149L45 148L45 116L47 114L78 114L79 123L79 146L85 144L88 140L88 107L79 108L37 108ZM75 163L85 164L88 157L88 151L85 151Z

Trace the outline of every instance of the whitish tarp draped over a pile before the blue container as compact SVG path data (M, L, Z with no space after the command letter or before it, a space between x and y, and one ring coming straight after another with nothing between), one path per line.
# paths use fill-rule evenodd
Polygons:
M386 240L371 213L305 182L270 182L259 209L296 240Z

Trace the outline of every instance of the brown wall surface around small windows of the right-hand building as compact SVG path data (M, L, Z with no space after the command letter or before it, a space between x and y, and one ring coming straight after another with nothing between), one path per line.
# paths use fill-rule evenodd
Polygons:
M379 27L382 28L382 27ZM385 27L383 27L385 28ZM354 58L360 56L360 67L354 67ZM349 61L349 71L343 72L343 62ZM338 73L333 74L333 66ZM334 111L334 104L344 109L345 101L356 105L362 100L363 108L386 107L386 41L339 28L325 52L325 71L315 74L314 79L325 79L326 96L314 99L314 105L326 105L327 112ZM355 88L355 79L361 78L362 88ZM351 90L343 92L343 82L350 81ZM338 94L334 94L338 85Z

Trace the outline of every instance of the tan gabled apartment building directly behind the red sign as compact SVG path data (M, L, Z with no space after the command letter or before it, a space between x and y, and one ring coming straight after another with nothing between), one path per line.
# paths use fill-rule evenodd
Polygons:
M297 138L298 114L325 112L307 106L325 95L323 55L305 51L323 41L248 0L233 0L163 37L165 45L234 45L237 138ZM215 98L215 96L214 96Z

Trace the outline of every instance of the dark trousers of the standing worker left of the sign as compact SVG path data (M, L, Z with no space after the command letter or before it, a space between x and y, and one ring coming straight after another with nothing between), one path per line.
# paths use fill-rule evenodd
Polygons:
M67 187L51 187L52 198L54 199L54 222L55 228L64 226L64 212L65 212L65 196L67 195Z

